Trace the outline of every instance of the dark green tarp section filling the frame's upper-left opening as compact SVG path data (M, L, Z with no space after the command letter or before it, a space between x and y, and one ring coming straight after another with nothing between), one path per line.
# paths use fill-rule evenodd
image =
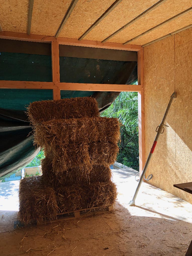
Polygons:
M0 80L51 82L51 56L1 52Z

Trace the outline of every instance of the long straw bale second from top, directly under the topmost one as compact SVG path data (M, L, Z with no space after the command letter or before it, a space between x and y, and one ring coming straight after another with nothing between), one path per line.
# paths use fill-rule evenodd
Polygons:
M116 118L59 119L35 126L34 143L44 148L72 142L111 142L120 139L120 122Z

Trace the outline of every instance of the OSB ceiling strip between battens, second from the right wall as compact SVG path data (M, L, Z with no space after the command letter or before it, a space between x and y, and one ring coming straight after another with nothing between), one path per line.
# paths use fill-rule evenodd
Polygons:
M192 0L174 1L167 0L167 2L158 6L150 13L142 17L140 20L131 24L129 27L122 30L120 33L109 39L109 42L124 43L142 33L151 29L165 20L187 10L192 6Z

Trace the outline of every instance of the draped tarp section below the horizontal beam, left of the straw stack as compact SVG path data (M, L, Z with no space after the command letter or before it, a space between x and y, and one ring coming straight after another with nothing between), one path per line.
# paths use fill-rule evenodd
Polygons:
M25 167L38 154L26 106L33 101L52 100L52 90L0 89L0 176Z

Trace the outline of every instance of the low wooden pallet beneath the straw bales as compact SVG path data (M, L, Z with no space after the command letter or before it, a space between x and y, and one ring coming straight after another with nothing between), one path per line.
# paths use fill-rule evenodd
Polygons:
M57 219L55 220L45 220L43 218L37 219L37 225L44 225L47 223L53 223L57 221L62 221L62 220L70 220L74 218L80 218L81 216L90 216L93 214L102 214L107 211L112 211L113 210L113 205L108 205L106 208L103 210L101 207L93 207L93 208L87 208L87 209L81 209L78 211L68 211L64 213L59 213L57 215Z

